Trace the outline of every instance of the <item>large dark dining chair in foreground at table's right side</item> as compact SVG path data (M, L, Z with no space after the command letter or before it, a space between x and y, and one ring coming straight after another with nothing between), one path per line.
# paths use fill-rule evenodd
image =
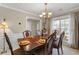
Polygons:
M53 44L54 35L50 35L47 38L45 45L43 45L40 49L33 51L34 55L51 55L52 54L52 44Z

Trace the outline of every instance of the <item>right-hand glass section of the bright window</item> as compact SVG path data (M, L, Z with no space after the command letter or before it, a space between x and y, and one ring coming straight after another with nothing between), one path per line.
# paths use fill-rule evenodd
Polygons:
M61 31L65 31L66 39L70 37L70 19L62 19L61 21Z

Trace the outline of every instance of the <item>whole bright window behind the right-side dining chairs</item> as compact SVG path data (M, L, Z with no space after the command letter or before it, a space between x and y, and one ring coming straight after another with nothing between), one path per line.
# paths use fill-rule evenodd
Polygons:
M58 30L60 32L65 31L65 38L68 41L70 39L70 18L53 20L52 30Z

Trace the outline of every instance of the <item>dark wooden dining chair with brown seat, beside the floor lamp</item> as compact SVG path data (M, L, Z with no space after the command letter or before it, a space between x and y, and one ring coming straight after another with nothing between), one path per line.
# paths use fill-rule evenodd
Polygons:
M13 47L12 47L12 44L11 44L11 42L9 40L8 35L6 33L4 33L4 35L5 35L6 42L7 42L8 46L9 46L9 49L11 51L11 55L25 55L25 52L21 48L18 48L18 49L13 51Z

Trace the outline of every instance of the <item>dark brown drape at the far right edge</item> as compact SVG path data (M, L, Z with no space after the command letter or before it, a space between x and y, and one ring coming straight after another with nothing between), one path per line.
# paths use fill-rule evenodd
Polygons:
M74 20L75 20L75 40L73 40L74 47L79 49L79 12L74 14Z

